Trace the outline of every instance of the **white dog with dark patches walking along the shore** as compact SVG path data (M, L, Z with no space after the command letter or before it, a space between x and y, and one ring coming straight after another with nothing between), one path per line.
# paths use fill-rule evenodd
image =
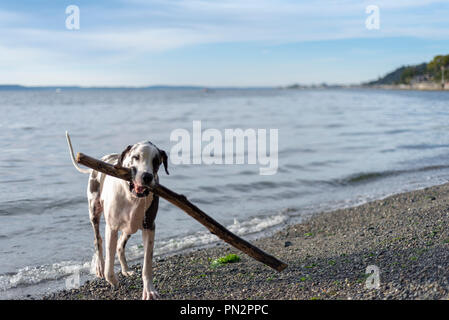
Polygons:
M129 145L121 154L109 154L101 158L115 166L131 169L130 182L117 179L92 169L82 169L75 161L70 136L66 132L67 144L75 168L82 173L89 173L87 199L89 217L94 229L94 247L96 255L96 275L105 278L113 287L118 285L114 273L114 259L117 252L121 273L129 276L125 258L125 246L132 234L142 230L144 261L142 269L142 299L159 298L153 286L153 247L155 219L159 206L159 197L148 186L159 182L158 170L163 164L168 172L168 157L150 141ZM103 259L103 241L100 235L100 218L104 213L106 227L106 257ZM118 232L121 231L120 238Z

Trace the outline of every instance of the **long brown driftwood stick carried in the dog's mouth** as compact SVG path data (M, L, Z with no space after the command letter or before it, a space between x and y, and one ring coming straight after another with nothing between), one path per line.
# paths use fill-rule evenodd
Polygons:
M76 156L76 162L85 165L91 169L102 172L107 175L111 175L113 177L123 179L126 181L130 181L131 179L131 170L124 167L117 167L111 165L109 163L97 160L95 158L89 157L85 154L78 153ZM282 271L287 267L282 261L279 261L275 257L265 253L261 249L255 247L251 243L246 240L240 238L235 235L217 221L208 216L205 212L199 209L197 206L192 204L187 198L176 192L171 191L170 189L164 187L161 184L157 184L153 187L149 187L151 192L154 192L158 196L164 198L168 202L174 204L178 208L185 211L189 216L197 220L199 223L204 225L211 233L222 239L223 241L229 243L230 245L236 247L240 251L243 251L250 257L253 257L257 261L260 261L271 268Z

